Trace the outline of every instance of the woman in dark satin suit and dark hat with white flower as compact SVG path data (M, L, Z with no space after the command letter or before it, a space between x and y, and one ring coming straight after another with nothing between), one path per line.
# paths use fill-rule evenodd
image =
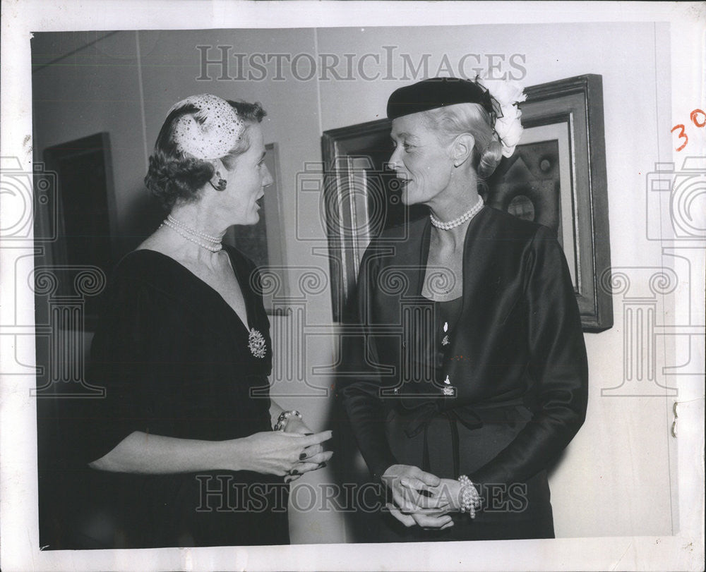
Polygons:
M552 231L477 190L513 154L523 97L436 78L388 101L402 201L430 216L361 262L341 394L388 497L377 540L554 537L546 470L587 405L580 315Z

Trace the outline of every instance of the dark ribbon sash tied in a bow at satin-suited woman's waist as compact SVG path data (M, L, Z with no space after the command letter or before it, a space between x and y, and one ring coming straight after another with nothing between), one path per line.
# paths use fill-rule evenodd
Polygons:
M405 414L407 425L405 434L409 439L416 437L424 431L424 452L421 461L421 470L431 472L429 461L429 439L427 430L431 420L445 417L448 420L451 433L451 448L453 449L454 477L460 475L460 451L458 425L460 423L469 430L479 429L485 423L516 423L526 422L532 418L530 411L525 407L522 398L502 403L489 403L484 406L460 406L453 409L441 410L438 403L425 403Z

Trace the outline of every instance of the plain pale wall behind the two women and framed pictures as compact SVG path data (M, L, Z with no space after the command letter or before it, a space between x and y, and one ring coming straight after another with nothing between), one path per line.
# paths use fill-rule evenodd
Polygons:
M35 54L68 53L95 37L64 35L50 42L37 35ZM285 255L293 267L314 267L328 275L328 261L312 257L312 248L325 245L325 232L316 205L302 206L297 198L297 173L307 162L321 161L322 130L371 121L383 116L385 102L404 80L352 81L292 79L262 81L196 80L200 74L196 45L229 45L231 53L395 54L419 61L432 54L430 73L443 54L451 62L464 54L525 54L525 85L572 75L603 75L606 125L606 166L609 188L611 258L616 267L659 267L659 247L644 236L645 174L659 157L666 157L664 133L669 133L669 35L666 26L525 25L448 28L342 28L292 30L210 30L185 32L119 32L80 49L61 66L33 74L35 90L35 150L107 130L112 156L120 232L136 232L146 191L141 183L146 154L167 109L187 95L212 92L222 97L258 100L268 110L264 130L268 142L280 148ZM139 57L138 57L139 54ZM212 50L213 59L218 54ZM52 56L47 56L47 60ZM486 65L486 61L483 62ZM66 65L74 64L74 65ZM88 65L91 64L91 65ZM400 60L395 59L400 76ZM374 66L373 66L374 67ZM504 69L508 69L505 63ZM235 75L235 68L231 69ZM515 68L514 73L518 73ZM421 77L419 77L421 79ZM666 138L669 145L669 136ZM664 160L664 159L663 159ZM306 236L306 240L297 240ZM124 244L131 243L130 238ZM298 292L301 270L289 281ZM328 289L308 296L307 324L331 326ZM672 533L669 473L669 423L664 397L602 396L601 389L623 379L623 306L614 298L615 326L602 334L587 334L591 391L587 422L551 475L556 533L560 537L604 535L669 535ZM275 318L273 328L291 325L292 317ZM306 344L306 367L331 363L333 336ZM275 360L290 351L275 348ZM328 388L327 375L307 376L316 388ZM280 382L273 394L287 406L306 412L314 429L323 429L330 397L299 397L311 387ZM331 480L328 469L304 477L309 483ZM638 486L639 485L639 486ZM294 542L344 542L345 522L330 513L293 513Z

